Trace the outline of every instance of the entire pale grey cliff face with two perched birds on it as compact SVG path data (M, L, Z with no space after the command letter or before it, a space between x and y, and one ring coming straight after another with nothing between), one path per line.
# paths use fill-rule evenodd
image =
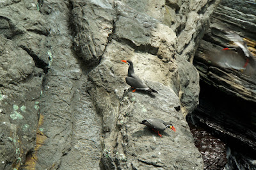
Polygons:
M0 169L202 169L184 115L218 2L1 1ZM126 90L121 59L156 97ZM148 117L177 131L161 138Z

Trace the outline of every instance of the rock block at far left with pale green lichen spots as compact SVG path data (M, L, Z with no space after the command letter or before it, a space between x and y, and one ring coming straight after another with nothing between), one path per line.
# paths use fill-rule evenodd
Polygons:
M35 148L44 72L28 52L1 35L0 55L0 169L12 169Z

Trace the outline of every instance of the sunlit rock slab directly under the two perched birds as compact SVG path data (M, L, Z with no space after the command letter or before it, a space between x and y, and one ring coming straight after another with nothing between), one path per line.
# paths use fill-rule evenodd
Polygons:
M145 64L145 61L150 63L150 61L159 60L161 62L161 59L152 54L136 53L129 46L125 48L122 45L120 48L120 45L113 40L108 45L111 50L106 49L106 56L104 54L104 59L100 65L89 73L89 80L92 81L92 89L89 89L89 93L93 98L97 98L94 100L95 105L100 114L103 114L103 130L106 132L103 141L102 166L105 169L132 169L133 167L138 169L154 167L162 167L163 169L191 169L195 167L202 169L201 156L198 155L197 150L193 150L193 139L190 138L191 135L184 116L182 116L180 109L178 109L179 112L175 110L175 108L180 107L180 104L174 91L168 86L163 86L159 82L156 83L154 77L151 77L154 82L148 81L147 84L159 91L156 97L142 92L126 91L124 93L124 87L129 87L124 84L127 65L120 62L124 56L115 56L112 49L115 49L118 54L122 54L119 50L124 50L124 55L130 52L131 56L137 56L137 58L130 59L134 61L139 59L141 64ZM138 72L139 76L145 75L147 77L155 70L153 65L142 74L138 69L140 66L134 66L135 72ZM163 73L164 70L168 70L168 65L166 66L167 68L164 69L163 65ZM161 70L158 72L161 75ZM164 132L163 139L159 139L156 134L152 134L148 128L138 123L138 121L148 117L171 120L179 132ZM109 118L111 119L109 120ZM183 143L182 147L186 147L189 151L184 150L181 154L177 154L180 143Z

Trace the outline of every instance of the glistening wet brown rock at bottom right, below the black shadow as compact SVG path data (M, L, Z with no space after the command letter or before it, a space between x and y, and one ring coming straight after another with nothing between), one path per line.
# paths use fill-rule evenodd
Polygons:
M256 169L254 151L248 151L243 144L236 141L227 143L228 140L225 137L223 139L218 130L202 124L200 119L193 118L193 114L187 116L187 121L195 139L195 146L202 153L204 169Z

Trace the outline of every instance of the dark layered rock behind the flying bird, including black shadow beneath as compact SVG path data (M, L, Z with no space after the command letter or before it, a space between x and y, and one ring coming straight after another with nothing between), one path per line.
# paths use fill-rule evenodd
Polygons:
M210 27L200 42L194 60L202 88L195 118L214 129L232 150L238 148L242 154L251 157L255 157L256 151L256 75L248 76L239 70L212 66L207 56L209 52L227 47L229 42L221 32L223 28L236 31L245 38L249 50L255 56L255 18L255 2L221 1L212 15ZM241 165L241 168L243 166L248 168L247 164Z

